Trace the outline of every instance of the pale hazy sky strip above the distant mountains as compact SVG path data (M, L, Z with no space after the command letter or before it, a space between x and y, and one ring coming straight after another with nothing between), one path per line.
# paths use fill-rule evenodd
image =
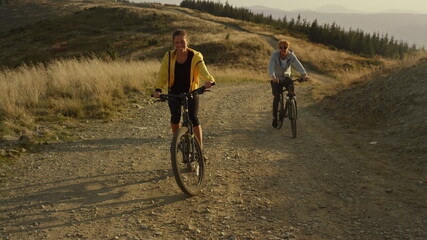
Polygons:
M179 5L181 0L132 0L134 2L157 2ZM213 0L225 3L225 0ZM427 14L427 0L228 0L236 7L263 5L282 10L310 9L314 10L324 5L341 5L343 7L367 13L401 10Z

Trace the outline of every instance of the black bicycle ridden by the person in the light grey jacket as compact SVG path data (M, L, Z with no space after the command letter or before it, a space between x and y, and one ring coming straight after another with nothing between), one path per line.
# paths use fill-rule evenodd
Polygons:
M279 101L279 121L277 125L277 129L282 128L283 126L283 120L285 118L288 118L291 122L291 130L292 130L292 137L297 137L297 116L298 116L298 108L297 108L297 100L295 98L295 88L294 88L294 82L303 82L303 78L298 79L281 79L281 84L286 86L281 92L280 92L280 101ZM286 94L286 101L285 101L285 92Z

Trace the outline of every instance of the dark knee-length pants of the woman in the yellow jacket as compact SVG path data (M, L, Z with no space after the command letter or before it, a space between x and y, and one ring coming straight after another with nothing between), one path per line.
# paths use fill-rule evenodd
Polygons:
M171 113L171 123L178 124L181 121L181 100L176 98L168 99L169 110ZM200 125L199 123L199 96L194 95L188 99L188 114L193 123L193 127Z

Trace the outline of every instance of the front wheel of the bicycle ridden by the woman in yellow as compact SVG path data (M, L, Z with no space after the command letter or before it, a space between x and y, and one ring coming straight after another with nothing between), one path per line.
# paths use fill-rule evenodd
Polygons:
M197 195L203 185L205 164L200 145L187 127L178 129L172 139L171 161L179 188L190 196Z

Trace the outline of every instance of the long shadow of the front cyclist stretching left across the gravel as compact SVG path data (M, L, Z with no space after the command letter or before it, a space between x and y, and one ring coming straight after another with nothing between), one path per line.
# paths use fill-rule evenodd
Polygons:
M11 234L153 211L187 198L165 195L159 189L158 182L171 176L166 169L112 173L2 190L3 196L17 197L0 200L0 225L7 227L5 234Z

